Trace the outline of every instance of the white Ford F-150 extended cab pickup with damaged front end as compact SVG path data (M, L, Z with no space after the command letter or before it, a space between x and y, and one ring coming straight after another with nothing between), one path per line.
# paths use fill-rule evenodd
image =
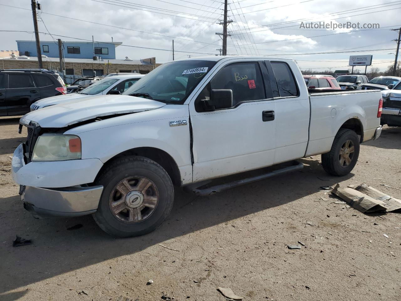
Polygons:
M346 175L359 144L381 134L382 102L378 90L310 95L291 59L173 61L123 95L23 116L12 174L34 216L93 214L107 233L136 236L162 224L173 185L211 194L303 165L217 178L318 154L325 171Z

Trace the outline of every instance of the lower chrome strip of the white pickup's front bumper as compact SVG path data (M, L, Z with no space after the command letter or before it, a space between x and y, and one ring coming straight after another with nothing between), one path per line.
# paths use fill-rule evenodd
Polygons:
M35 218L74 217L94 213L103 186L40 188L26 186L21 199Z

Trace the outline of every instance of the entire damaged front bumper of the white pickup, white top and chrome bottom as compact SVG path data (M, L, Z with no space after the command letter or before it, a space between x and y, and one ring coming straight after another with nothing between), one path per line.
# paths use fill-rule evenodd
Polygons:
M102 165L99 159L26 164L20 144L12 157L12 176L20 184L24 208L36 218L83 216L97 210L103 186L81 184L93 183Z

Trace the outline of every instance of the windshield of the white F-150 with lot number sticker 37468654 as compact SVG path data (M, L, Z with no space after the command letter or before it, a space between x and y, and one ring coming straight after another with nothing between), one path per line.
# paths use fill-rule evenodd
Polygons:
M214 61L192 60L166 63L134 83L123 94L144 93L166 104L183 104L215 64Z

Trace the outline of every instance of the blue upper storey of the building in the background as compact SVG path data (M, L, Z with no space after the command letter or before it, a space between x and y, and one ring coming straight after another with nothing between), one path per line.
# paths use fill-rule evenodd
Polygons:
M20 55L37 57L35 41L16 41ZM67 42L63 41L66 59L115 59L115 47L122 42ZM42 55L59 57L59 45L55 41L41 41Z

